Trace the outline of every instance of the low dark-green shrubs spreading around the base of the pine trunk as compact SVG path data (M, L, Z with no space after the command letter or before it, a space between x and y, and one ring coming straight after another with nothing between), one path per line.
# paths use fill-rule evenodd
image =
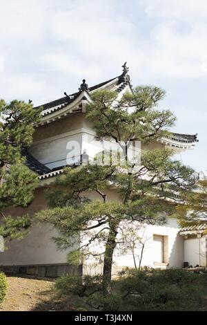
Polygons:
M188 270L126 269L112 281L108 296L101 293L98 276L67 275L57 280L56 289L88 297L88 305L99 310L197 310L206 295L201 279Z

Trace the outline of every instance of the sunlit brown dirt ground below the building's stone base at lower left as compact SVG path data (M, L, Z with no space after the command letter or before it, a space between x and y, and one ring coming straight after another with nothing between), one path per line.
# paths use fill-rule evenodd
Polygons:
M0 311L75 310L73 304L77 301L56 297L53 284L50 279L8 277L8 292Z

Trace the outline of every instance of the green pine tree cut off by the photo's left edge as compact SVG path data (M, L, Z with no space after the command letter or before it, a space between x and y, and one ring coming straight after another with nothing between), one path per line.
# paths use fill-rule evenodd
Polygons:
M39 122L41 110L31 103L0 100L0 234L17 238L30 226L28 216L13 218L3 210L9 206L26 207L37 187L37 174L25 165L23 151L30 147L34 123Z

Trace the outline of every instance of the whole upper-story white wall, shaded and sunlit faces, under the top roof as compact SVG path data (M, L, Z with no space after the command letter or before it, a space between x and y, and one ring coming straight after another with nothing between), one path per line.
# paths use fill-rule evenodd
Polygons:
M34 142L30 153L40 163L53 169L77 163L84 151L89 158L94 158L103 150L115 150L115 145L115 140L104 143L95 140L92 122L86 120L83 113L73 113L66 118L39 126L34 132ZM141 145L141 149L145 150L164 147L164 144L157 141Z

